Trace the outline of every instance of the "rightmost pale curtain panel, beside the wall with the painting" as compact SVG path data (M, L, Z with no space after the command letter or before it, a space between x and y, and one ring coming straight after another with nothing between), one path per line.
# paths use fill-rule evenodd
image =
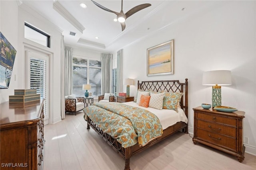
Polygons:
M116 94L123 92L123 49L117 52L117 89Z

